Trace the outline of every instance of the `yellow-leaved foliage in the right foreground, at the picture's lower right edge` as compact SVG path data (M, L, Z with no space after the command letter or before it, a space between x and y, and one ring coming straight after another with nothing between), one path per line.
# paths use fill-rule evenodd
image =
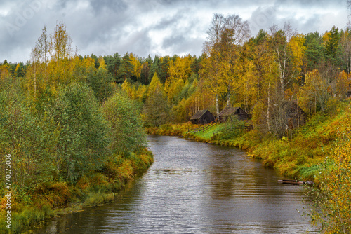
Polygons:
M312 221L321 223L323 233L351 232L351 109L347 120L339 123L338 141L322 173L317 204L319 212L312 212Z

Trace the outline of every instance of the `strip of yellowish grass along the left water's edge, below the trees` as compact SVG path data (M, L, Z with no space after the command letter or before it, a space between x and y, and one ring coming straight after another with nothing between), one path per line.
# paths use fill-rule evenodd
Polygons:
M81 177L77 184L55 182L43 184L32 193L13 191L11 198L11 229L1 225L0 233L30 233L53 216L79 212L87 207L102 205L115 199L115 193L143 174L153 162L147 149L138 154L119 156L107 162L105 167ZM1 223L5 223L6 200L1 200Z

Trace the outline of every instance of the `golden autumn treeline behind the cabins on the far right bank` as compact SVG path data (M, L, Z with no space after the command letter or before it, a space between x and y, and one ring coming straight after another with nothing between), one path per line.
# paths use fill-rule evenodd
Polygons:
M251 37L237 15L215 14L199 57L104 58L114 81L143 104L147 125L189 121L199 109L218 114L230 105L251 113L258 130L282 137L284 102L307 115L333 113L350 95L350 40L350 29L299 34L287 23Z

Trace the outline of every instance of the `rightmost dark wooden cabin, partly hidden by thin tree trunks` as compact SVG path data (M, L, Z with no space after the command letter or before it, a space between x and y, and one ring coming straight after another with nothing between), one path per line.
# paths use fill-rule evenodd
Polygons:
M298 125L305 124L305 112L298 107L295 102L283 102L283 107L286 108L286 125L290 129L298 128Z

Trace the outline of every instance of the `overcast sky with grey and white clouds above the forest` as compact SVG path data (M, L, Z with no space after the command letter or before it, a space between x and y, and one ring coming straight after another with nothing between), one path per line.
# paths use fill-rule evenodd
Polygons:
M80 55L201 55L213 13L248 20L252 36L284 21L303 34L347 24L346 0L0 0L0 62L27 62L57 22Z

